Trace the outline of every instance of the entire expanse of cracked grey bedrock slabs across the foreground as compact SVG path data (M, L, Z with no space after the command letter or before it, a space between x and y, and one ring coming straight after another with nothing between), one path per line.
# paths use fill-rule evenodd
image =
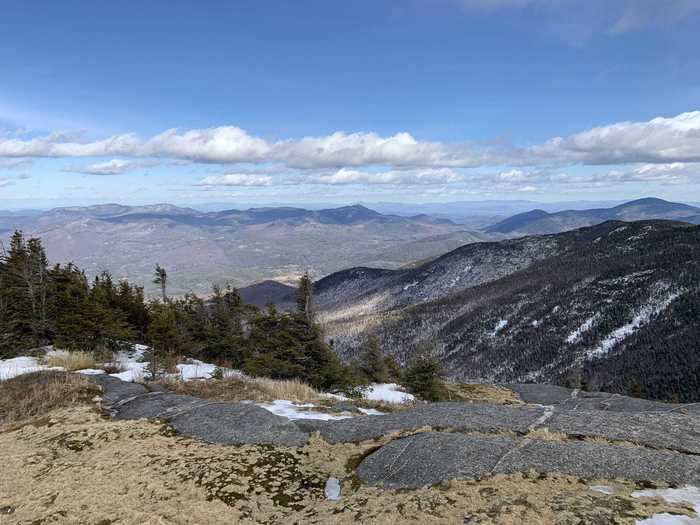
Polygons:
M183 435L209 443L300 447L316 431L331 444L420 431L390 441L360 463L360 479L384 488L530 470L585 479L700 484L700 417L694 415L693 405L583 395L552 385L507 385L524 400L539 404L432 403L380 416L292 421L251 403L149 392L143 385L109 376L94 380L103 390L103 405L115 418L160 419ZM338 404L337 409L349 407ZM549 433L531 433L544 429ZM615 443L620 441L627 443ZM326 488L335 497L332 479Z

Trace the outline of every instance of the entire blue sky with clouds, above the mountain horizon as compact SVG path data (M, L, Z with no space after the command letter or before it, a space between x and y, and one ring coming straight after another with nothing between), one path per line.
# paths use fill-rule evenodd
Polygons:
M0 206L700 201L700 0L0 2Z

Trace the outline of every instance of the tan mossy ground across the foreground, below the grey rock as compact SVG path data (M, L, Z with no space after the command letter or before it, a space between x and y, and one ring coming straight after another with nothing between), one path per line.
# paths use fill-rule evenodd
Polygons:
M0 433L0 523L633 523L682 507L592 491L563 476L496 476L417 491L361 486L353 467L378 443L224 447L158 423L64 408ZM327 501L329 476L342 499ZM590 485L596 484L590 483Z

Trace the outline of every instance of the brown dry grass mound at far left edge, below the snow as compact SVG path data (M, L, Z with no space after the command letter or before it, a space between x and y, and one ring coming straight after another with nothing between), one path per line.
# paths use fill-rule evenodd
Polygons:
M0 430L56 408L89 402L98 393L86 377L65 372L34 372L0 381Z

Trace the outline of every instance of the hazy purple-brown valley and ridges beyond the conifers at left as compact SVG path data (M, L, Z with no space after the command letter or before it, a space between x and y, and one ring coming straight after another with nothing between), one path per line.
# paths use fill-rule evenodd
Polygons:
M306 210L252 208L201 212L171 204L104 204L46 212L0 213L0 235L14 229L42 238L52 262L73 261L155 292L156 263L170 291L206 293L212 283L293 281L354 265L399 268L488 238L429 215L400 217L364 206Z

